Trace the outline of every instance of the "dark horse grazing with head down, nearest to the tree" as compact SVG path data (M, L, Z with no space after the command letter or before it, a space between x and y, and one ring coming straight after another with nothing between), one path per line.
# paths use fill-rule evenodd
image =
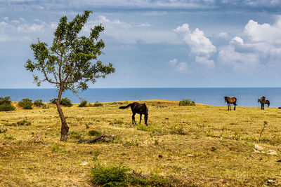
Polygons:
M128 104L127 106L120 106L119 109L126 109L129 106L131 106L131 110L133 112L133 116L132 116L133 124L136 124L135 115L136 115L136 113L139 113L140 114L140 124L141 124L141 115L144 114L145 115L145 125L148 125L148 106L146 106L145 104L140 104L138 102L133 102L131 104Z

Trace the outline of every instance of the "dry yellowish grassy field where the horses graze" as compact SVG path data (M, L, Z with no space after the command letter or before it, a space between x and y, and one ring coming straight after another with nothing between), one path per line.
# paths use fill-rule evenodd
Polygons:
M237 106L227 111L227 106L140 102L149 108L148 127L144 121L131 125L131 109L118 109L125 105L118 102L64 107L67 142L60 141L53 104L0 112L0 186L93 186L89 172L98 163L173 177L176 186L281 185L280 109ZM91 138L90 130L115 140L77 144ZM263 150L255 151L255 145Z

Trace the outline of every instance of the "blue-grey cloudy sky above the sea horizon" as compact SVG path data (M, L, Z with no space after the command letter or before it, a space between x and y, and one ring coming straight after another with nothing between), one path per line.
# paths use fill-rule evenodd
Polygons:
M0 0L0 88L37 88L30 45L85 10L116 69L90 88L281 87L281 0Z

